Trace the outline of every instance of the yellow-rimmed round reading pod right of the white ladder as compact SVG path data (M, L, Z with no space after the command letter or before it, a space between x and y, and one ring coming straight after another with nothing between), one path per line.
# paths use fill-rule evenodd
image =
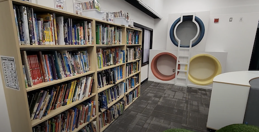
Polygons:
M198 54L190 59L188 79L197 85L209 85L221 71L222 67L217 58L209 54Z

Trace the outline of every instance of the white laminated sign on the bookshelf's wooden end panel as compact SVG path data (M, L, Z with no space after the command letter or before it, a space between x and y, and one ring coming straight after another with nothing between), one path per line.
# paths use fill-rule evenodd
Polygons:
M5 86L19 90L14 57L1 57Z

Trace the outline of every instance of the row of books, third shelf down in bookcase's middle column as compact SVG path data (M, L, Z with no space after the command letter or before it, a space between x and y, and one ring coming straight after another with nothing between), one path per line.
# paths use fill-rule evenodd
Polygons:
M97 73L98 89L106 85L116 84L117 80L124 78L123 66L102 70Z

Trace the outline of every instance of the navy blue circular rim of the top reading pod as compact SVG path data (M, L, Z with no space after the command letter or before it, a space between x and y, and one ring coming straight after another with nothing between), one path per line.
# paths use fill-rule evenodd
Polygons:
M179 23L181 20L181 17L179 17L177 20L174 21L174 23L172 24L171 28L170 28L170 39L171 41L173 42L173 44L175 46L178 46L178 42L175 40L174 38L174 28L176 26L177 23ZM183 21L187 21L187 20L192 20L192 16L185 16L184 17L184 20ZM198 23L199 27L200 27L200 37L197 39L197 41L195 41L193 44L192 44L192 47L196 46L197 44L199 44L204 36L204 33L205 33L205 27L204 27L204 24L202 22L202 20L195 16L195 21ZM189 46L183 46L181 45L180 47L189 47Z

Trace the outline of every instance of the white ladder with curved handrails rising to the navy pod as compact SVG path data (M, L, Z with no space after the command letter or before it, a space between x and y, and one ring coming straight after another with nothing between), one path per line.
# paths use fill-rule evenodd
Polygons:
M180 23L182 23L183 16L188 16L188 15L192 15L193 16L192 17L192 21L197 26L197 33L196 33L196 36L192 40L190 40L189 47L180 47L181 40L176 36L176 29L177 29L177 26ZM176 40L178 41L176 70L175 70L175 79L174 79L174 85L176 85L176 86L187 87L189 65L190 65L190 58L191 58L192 42L198 37L199 32L200 32L200 27L199 27L199 24L195 21L195 14L184 14L184 15L181 15L180 22L177 23L175 28L174 28L174 35L175 35ZM178 69L179 65L180 65L180 69Z

